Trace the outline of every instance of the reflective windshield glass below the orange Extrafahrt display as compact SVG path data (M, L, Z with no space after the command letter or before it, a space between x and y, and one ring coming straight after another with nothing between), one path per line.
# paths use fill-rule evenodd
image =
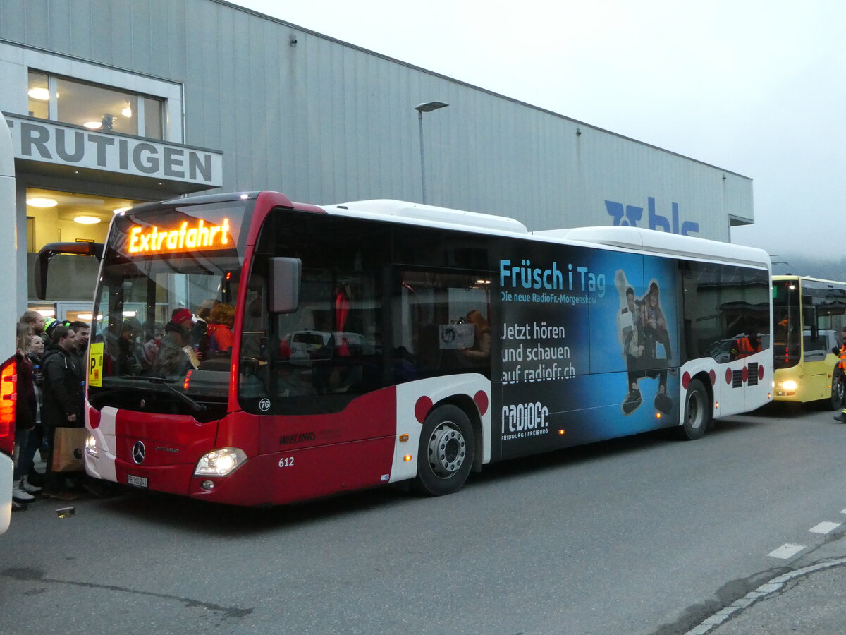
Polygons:
M141 391L147 411L225 406L238 284L237 257L106 263L91 334L103 378L91 403L137 409Z

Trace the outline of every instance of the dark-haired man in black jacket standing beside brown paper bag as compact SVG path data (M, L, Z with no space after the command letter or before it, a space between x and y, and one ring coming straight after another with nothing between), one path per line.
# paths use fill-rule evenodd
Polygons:
M80 428L83 423L83 374L76 356L74 330L59 325L52 331L52 345L44 353L44 404L41 422L47 438L47 472L44 491L50 498L75 500L76 494L64 486L63 474L52 472L53 442L56 428Z

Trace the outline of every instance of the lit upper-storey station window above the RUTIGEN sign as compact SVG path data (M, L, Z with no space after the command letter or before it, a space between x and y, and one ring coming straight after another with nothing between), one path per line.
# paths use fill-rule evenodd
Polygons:
M164 102L157 97L30 70L30 117L162 139Z

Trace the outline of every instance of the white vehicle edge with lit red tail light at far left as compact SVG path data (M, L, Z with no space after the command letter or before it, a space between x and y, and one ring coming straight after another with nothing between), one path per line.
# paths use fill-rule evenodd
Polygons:
M0 223L0 253L14 258L17 253L15 235L14 201L14 155L12 154L12 136L8 132L6 119L0 113L0 213L6 214ZM17 276L0 276L0 297L17 297ZM15 349L14 301L5 302L0 309L0 533L8 528L12 514L12 478L14 450L14 408L16 393L16 375L14 362ZM8 359L7 359L7 356Z

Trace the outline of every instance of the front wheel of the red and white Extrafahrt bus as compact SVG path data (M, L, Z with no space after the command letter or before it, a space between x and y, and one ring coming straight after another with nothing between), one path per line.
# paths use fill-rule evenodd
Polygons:
M458 406L438 406L423 422L413 489L426 496L459 491L470 475L475 437L470 419Z

